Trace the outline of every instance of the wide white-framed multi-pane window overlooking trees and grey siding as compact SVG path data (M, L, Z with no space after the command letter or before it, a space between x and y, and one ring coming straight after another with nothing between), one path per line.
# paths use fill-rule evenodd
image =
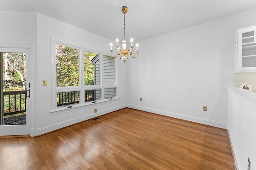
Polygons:
M115 59L52 39L52 111L116 97Z

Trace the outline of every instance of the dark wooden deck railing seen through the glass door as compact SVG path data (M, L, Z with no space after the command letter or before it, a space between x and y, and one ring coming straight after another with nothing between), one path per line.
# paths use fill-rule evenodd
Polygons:
M26 91L4 91L4 116L26 112Z

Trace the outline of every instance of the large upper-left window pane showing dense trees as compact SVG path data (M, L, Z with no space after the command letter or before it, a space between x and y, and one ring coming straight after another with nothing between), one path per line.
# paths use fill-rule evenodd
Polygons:
M56 87L79 85L78 49L56 45Z

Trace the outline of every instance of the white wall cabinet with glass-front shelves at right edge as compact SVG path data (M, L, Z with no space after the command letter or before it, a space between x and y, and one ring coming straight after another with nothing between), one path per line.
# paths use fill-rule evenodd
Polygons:
M235 72L256 72L256 26L236 31Z

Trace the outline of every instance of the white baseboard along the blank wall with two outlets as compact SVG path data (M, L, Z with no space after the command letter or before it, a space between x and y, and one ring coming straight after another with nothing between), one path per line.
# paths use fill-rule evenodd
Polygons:
M219 128L224 128L224 129L228 128L227 124L223 123L223 122L212 121L212 120L208 120L208 119L202 119L202 118L198 118L198 117L192 117L192 116L183 115L183 114L179 114L179 113L162 111L162 110L158 110L158 109L152 109L152 108L141 107L141 106L136 106L136 105L127 105L127 107L132 108L132 109L147 111L147 112L151 112L151 113L156 113L156 114L164 115L164 116L168 116L168 117L174 117L177 119L183 119L186 121L201 123L201 124L209 125L209 126L213 126L213 127L219 127Z

